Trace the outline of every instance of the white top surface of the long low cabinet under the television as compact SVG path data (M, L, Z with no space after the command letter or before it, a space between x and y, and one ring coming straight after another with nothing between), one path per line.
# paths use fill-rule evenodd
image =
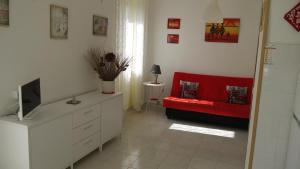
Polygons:
M26 128L34 127L121 95L122 93L102 94L100 91L94 91L77 96L77 100L81 101L81 103L78 105L66 104L66 102L70 99L65 99L41 106L37 110L37 115L32 120L19 121L16 116L8 116L0 118L0 123L9 123L11 125L18 125Z

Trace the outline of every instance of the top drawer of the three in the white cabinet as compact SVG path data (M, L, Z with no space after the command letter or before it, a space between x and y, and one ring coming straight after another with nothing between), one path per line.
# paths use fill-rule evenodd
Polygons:
M95 105L90 108L82 109L73 115L73 128L100 117L100 105Z

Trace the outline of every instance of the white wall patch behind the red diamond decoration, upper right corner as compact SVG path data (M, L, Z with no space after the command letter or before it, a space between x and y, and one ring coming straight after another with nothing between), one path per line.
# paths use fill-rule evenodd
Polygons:
M300 33L283 19L299 0L271 0L269 42L300 44Z

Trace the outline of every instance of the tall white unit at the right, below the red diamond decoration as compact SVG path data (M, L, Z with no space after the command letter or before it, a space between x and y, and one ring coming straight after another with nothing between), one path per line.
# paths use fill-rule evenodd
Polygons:
M300 45L270 43L268 47L253 169L285 169L300 72Z

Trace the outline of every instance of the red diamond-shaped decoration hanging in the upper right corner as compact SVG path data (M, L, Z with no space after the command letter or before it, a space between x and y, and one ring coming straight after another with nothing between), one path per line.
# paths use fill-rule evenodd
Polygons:
M300 2L284 15L284 19L300 32Z

